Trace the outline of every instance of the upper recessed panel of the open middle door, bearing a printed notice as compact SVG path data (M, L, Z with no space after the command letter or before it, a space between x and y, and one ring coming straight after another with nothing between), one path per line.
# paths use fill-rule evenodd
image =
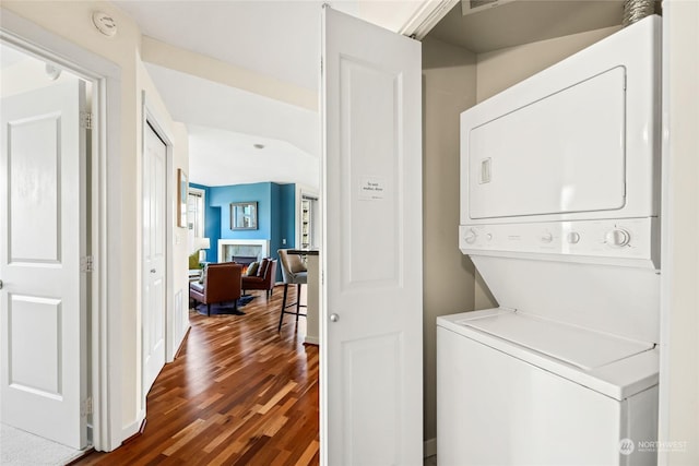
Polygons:
M342 216L339 231L340 242L347 244L342 261L346 267L344 290L377 280L398 286L403 243L396 235L401 212L394 186L403 181L401 154L395 150L400 144L402 75L382 69L381 63L344 56L340 57L340 73L341 124L347 129L340 142L341 170L346 174L341 180L344 210L350 214ZM381 228L352 228L355 223Z

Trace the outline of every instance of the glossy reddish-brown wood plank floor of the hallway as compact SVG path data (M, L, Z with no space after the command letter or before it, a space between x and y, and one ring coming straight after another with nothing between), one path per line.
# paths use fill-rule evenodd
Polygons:
M277 333L282 287L269 303L252 294L245 315L190 310L179 356L149 393L143 433L78 464L319 464L318 347L301 343L305 318L297 327L285 315Z

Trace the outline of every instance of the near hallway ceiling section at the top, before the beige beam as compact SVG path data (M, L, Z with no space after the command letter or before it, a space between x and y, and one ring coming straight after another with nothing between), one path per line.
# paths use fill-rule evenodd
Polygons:
M317 87L319 1L114 1L143 35L263 75Z

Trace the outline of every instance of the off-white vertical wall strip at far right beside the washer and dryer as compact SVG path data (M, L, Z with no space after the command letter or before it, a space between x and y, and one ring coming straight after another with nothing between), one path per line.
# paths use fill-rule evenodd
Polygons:
M661 465L699 465L699 2L665 1Z

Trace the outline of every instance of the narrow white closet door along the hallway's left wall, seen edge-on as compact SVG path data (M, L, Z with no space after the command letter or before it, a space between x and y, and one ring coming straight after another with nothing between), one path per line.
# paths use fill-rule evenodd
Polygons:
M143 151L143 396L165 366L165 170L167 146L145 124Z

